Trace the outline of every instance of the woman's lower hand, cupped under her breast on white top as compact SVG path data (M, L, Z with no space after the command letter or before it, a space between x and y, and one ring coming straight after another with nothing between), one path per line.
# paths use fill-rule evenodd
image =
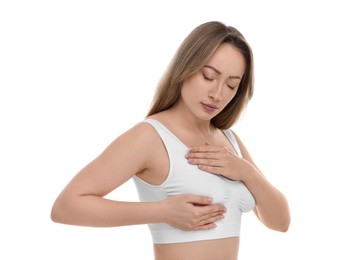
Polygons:
M212 204L211 198L193 194L170 196L162 203L165 222L184 231L215 228L215 222L224 218L226 212L224 205Z

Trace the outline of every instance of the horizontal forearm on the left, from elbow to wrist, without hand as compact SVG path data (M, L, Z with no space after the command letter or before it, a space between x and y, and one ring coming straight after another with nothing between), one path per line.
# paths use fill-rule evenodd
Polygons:
M55 222L91 227L115 227L158 223L163 212L158 202L119 202L84 195L56 202L51 212Z

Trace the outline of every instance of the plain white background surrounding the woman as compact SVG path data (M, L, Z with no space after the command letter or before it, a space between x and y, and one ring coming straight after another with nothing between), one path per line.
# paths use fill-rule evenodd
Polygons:
M254 50L234 130L292 213L287 233L244 215L239 259L342 259L338 1L253 0L0 2L0 259L152 259L146 226L65 226L50 209L144 118L178 45L209 20ZM111 196L138 199L132 182Z

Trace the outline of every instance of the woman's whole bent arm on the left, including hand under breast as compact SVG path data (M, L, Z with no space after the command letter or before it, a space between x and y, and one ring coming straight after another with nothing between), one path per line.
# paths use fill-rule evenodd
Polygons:
M159 202L104 198L150 167L156 140L156 133L147 124L138 124L119 136L63 189L52 207L51 219L93 227L164 222L183 230L213 228L225 209L203 196L177 195Z

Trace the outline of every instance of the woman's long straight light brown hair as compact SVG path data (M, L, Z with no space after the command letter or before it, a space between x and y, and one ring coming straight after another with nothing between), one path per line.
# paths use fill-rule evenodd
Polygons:
M211 120L219 129L230 128L253 96L253 53L237 29L217 21L196 27L184 39L158 84L147 116L170 108L178 100L184 80L206 65L222 43L233 45L243 54L246 61L245 73L236 95Z

